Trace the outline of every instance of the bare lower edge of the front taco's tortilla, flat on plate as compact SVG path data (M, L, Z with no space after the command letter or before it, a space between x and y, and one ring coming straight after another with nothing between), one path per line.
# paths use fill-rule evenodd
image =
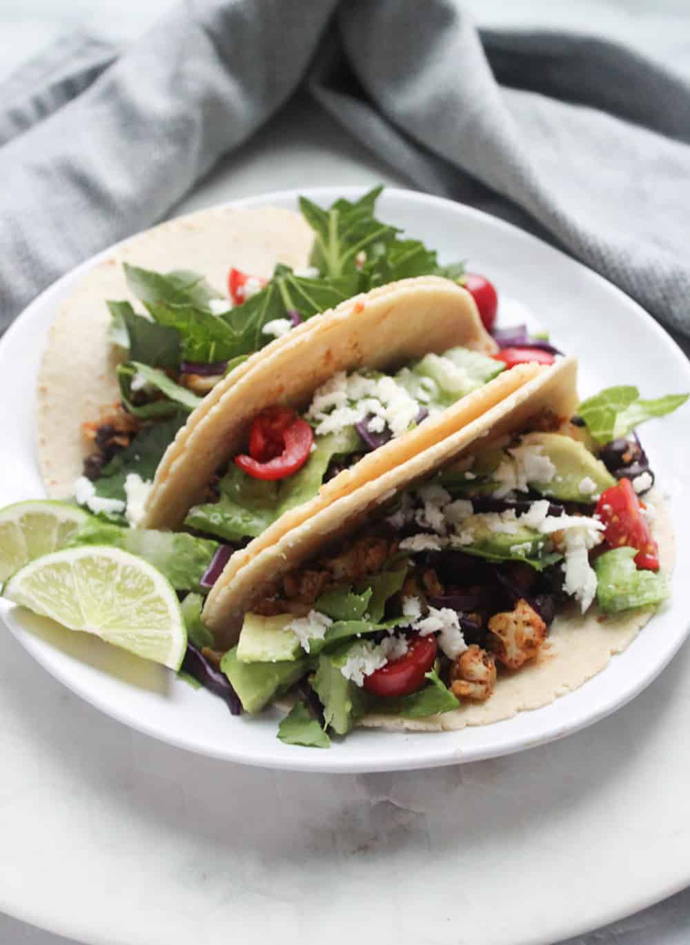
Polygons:
M671 517L658 495L650 493L649 500L656 509L651 530L659 542L661 567L670 575L674 562ZM538 659L515 672L499 670L496 688L486 702L468 699L453 712L421 719L371 714L357 725L408 731L458 730L468 725L491 725L528 709L540 709L605 669L614 654L622 653L632 643L655 610L640 607L604 615L593 605L584 615L575 609L562 613L551 625Z

